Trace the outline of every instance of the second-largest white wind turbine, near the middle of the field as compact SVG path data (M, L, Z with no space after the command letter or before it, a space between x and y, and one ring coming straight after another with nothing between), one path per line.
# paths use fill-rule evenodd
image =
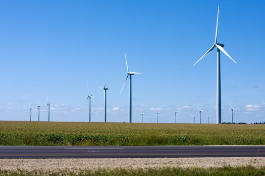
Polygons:
M129 77L129 79L130 79L130 82L129 82L129 123L132 123L132 75L142 74L142 73L130 72L129 68L128 68L128 64L127 64L126 53L124 53L124 56L125 56L126 67L127 67L127 76L126 76L126 79L123 83L122 90L123 90L123 87L124 87L128 77ZM122 90L121 90L121 93L122 93ZM120 93L120 95L121 95L121 93Z

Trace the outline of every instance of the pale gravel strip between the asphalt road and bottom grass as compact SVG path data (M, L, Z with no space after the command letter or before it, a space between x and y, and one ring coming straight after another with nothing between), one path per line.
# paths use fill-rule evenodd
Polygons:
M62 158L62 159L0 159L0 169L43 171L99 168L161 168L161 167L222 167L265 166L265 157L206 157L206 158Z

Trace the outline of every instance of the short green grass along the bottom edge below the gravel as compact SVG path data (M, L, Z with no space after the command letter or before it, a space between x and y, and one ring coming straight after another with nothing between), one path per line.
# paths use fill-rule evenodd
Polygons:
M220 167L220 168L180 168L180 167L166 167L166 168L149 168L149 169L98 169L91 171L79 170L79 171L49 171L43 172L41 170L35 171L25 171L25 170L0 170L0 175L181 175L181 176L191 176L191 175L251 175L260 176L265 175L265 166L256 168L253 166L241 166L241 167Z

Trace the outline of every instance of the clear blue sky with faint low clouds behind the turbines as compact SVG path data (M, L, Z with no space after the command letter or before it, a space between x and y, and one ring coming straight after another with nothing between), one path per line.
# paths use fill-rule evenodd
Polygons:
M107 121L128 121L124 52L133 76L133 122L216 122L218 42L221 54L222 121L265 121L264 1L1 1L0 118L37 120L38 101L51 106L51 121L103 121L103 86L109 75ZM41 107L40 120L47 121ZM196 119L198 122L198 119Z

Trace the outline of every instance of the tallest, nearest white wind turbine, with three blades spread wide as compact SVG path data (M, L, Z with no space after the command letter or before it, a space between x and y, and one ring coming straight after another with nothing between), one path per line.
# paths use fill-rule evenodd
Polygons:
M216 101L216 123L221 124L221 65L220 65L220 50L227 55L232 61L236 63L236 61L225 51L223 48L225 45L217 43L217 33L218 33L218 18L219 18L219 6L218 6L218 14L217 14L217 23L216 23L216 37L214 45L201 56L201 58L196 62L198 63L201 59L203 59L206 55L208 55L215 47L217 47L217 101ZM195 64L196 64L195 63ZM194 65L195 65L194 64ZM193 66L194 66L193 65Z

